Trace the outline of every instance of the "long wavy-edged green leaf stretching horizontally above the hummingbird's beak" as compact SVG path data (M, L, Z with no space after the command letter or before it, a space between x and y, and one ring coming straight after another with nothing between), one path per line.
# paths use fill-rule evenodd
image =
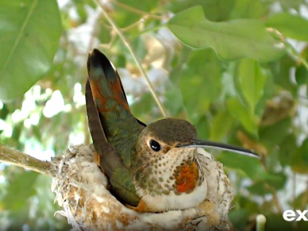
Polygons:
M223 59L254 57L260 61L271 61L284 52L261 21L210 22L200 6L177 13L166 26L187 46L212 47Z

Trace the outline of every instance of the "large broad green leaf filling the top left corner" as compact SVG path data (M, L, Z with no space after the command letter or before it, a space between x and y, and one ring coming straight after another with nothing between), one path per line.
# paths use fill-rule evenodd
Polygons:
M3 0L0 33L0 100L12 100L51 66L61 35L56 1Z

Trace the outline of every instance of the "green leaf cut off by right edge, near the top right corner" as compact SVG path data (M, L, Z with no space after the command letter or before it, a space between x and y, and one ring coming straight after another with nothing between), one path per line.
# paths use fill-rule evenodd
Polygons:
M265 25L274 27L286 37L308 41L308 20L300 15L278 13L269 17Z

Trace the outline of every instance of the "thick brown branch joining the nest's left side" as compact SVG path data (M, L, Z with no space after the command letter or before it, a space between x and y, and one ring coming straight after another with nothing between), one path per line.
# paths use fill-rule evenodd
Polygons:
M0 162L36 171L48 177L55 177L54 167L48 161L41 161L21 151L0 145Z

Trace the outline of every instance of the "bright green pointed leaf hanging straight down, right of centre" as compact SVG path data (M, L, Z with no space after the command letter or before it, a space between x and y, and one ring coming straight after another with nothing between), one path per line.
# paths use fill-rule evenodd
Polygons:
M254 59L242 59L238 68L238 78L241 91L248 102L251 112L263 94L266 75Z

